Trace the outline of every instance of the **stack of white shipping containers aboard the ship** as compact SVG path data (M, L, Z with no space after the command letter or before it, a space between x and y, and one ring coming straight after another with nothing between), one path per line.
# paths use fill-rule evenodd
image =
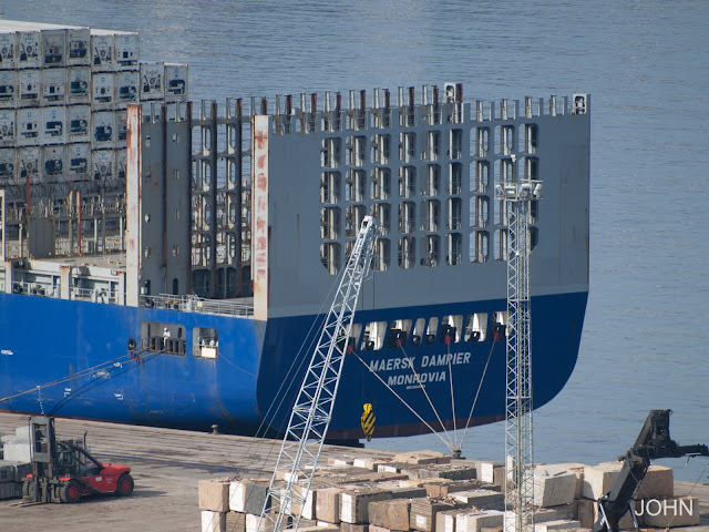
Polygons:
M186 100L187 65L141 63L137 33L0 20L0 188L122 192L127 104Z

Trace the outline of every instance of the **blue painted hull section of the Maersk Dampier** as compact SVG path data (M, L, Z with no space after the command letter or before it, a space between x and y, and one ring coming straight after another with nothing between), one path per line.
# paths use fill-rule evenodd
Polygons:
M538 296L532 299L534 408L552 400L576 364L587 293ZM505 300L446 304L362 311L356 319L394 319L499 311ZM185 327L186 354L144 354L131 359L129 338L141 337L144 321ZM129 423L254 433L264 420L271 429L286 427L311 351L306 337L315 316L269 319L237 318L174 310L125 307L45 297L0 294L0 409L45 412ZM193 330L218 330L219 356L193 355ZM492 337L492 335L489 335ZM317 338L316 338L317 340ZM299 352L300 350L300 352ZM467 421L477 387L490 366L471 424L504 418L505 344L490 339L356 351L346 358L330 424L330 437L362 438L363 403L377 416L374 437L409 436L442 430L413 371L432 398L449 429ZM452 355L451 365L448 355ZM294 359L305 358L289 375ZM110 362L110 364L107 364ZM100 366L100 368L97 368ZM419 419L373 374L423 418ZM451 401L455 397L455 412ZM54 386L45 386L59 381ZM288 392L282 396L281 383ZM288 387L288 385L291 385ZM42 387L38 389L38 387ZM280 401L282 402L275 402ZM280 405L280 408L271 405Z

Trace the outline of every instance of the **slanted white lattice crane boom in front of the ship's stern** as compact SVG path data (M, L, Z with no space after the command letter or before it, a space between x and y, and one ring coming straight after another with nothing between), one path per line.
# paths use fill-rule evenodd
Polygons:
M297 530L330 424L362 280L371 262L377 221L366 216L325 319L290 413L268 488L259 531ZM311 441L308 441L311 440Z

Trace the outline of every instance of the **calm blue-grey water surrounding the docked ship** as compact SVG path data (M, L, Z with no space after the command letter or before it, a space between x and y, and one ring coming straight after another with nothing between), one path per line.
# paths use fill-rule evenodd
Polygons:
M536 461L614 460L651 408L709 443L709 2L3 0L8 19L141 32L193 99L461 81L465 100L593 94L590 296ZM502 460L502 423L463 453ZM460 439L460 436L459 436ZM377 447L444 450L434 436ZM664 461L697 480L707 459ZM706 475L709 473L705 471Z

